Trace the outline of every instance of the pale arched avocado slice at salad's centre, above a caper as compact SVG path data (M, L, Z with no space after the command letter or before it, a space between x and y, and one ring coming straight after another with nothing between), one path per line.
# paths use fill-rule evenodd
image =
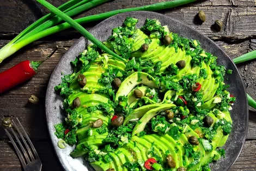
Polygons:
M138 81L138 79L142 81ZM145 84L148 87L159 88L155 78L145 72L134 72L121 83L117 94L115 94L115 101L118 101L119 96L127 96L131 90L138 84Z

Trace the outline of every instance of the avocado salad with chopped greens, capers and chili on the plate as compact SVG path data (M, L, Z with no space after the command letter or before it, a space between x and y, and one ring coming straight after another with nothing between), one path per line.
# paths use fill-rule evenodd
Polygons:
M54 87L66 112L58 145L75 145L70 155L95 170L210 170L232 129L232 70L198 40L137 22L127 17L103 42L123 60L89 44Z

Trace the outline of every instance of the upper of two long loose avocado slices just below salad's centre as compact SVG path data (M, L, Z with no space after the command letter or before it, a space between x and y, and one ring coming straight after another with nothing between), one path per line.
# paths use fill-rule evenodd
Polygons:
M151 109L154 109L156 107L160 107L161 104L152 104L152 105L145 105L139 108L134 109L124 120L123 125L127 125L129 123L130 119L141 119L145 113L150 111Z

